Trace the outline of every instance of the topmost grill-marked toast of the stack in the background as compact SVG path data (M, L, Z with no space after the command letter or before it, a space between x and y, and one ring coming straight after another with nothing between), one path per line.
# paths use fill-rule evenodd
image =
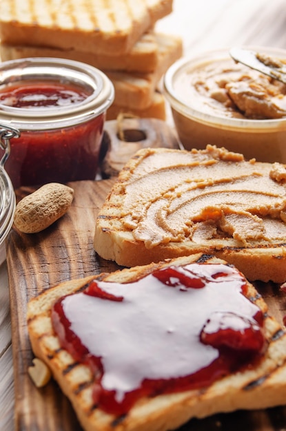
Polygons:
M129 52L141 35L172 12L172 0L1 0L0 39L95 54Z

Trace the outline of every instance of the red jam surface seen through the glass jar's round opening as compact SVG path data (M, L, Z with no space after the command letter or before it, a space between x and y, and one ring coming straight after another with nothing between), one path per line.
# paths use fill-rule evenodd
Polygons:
M10 107L41 109L76 105L88 96L88 92L76 86L40 81L5 87L0 90L0 103Z

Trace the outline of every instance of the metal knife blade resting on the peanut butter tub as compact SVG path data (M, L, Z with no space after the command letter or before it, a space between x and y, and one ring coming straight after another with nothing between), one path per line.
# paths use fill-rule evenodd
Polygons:
M231 48L229 54L234 61L247 65L286 84L286 64L280 59L243 48Z

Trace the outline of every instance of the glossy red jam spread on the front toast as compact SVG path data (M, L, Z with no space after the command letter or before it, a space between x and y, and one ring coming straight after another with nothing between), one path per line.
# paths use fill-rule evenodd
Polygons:
M225 265L170 267L133 283L91 282L54 304L52 323L61 346L94 370L94 403L119 415L261 357L263 315L245 289Z

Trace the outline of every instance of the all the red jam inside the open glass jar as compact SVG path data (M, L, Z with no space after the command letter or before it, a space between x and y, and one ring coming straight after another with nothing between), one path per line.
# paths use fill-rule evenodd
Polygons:
M57 81L18 83L0 90L0 110L6 105L17 109L17 114L25 108L45 116L54 109L61 116L61 111L76 107L90 92L83 86ZM43 130L37 129L36 120L31 119L21 136L10 141L6 171L14 189L47 182L94 180L104 120L105 114L91 115L84 122L74 116L63 127L57 120Z

